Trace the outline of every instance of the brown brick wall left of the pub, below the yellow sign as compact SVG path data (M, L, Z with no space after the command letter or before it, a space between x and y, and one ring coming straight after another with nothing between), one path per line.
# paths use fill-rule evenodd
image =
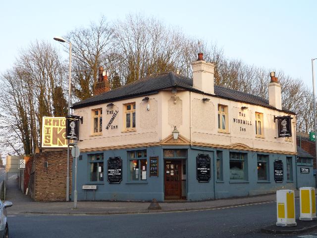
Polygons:
M48 162L48 167L44 167ZM69 180L71 194L72 159L69 159ZM46 151L35 156L35 201L66 200L67 150Z

